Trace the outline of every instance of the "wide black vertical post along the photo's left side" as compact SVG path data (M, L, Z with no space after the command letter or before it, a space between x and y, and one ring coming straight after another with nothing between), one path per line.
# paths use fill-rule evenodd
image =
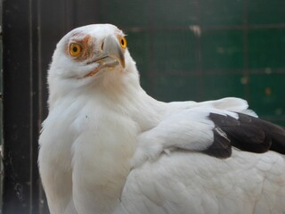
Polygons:
M4 213L31 213L33 161L31 1L3 2Z

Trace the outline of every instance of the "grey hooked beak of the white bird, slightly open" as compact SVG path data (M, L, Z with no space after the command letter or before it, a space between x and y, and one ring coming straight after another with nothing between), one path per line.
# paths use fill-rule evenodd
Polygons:
M125 68L125 56L121 46L118 43L118 38L113 35L106 37L102 44L102 56L88 63L93 62L99 63L99 66L96 68L96 70L91 71L90 73L85 75L85 77L91 77L103 68L115 67L116 65L118 65L118 63L123 68Z

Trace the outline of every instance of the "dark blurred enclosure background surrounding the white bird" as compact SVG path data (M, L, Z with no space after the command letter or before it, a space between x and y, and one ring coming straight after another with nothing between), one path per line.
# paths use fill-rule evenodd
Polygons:
M156 99L238 96L285 126L284 0L2 0L1 12L0 213L48 213L37 171L46 70L56 43L82 25L123 29Z

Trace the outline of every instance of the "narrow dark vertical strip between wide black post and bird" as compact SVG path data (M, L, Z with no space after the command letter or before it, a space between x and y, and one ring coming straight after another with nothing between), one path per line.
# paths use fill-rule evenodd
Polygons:
M30 0L30 91L31 91L31 100L30 100L30 179L31 179L31 195L30 195L30 213L37 214L39 211L39 188L40 188L40 178L37 168L37 156L38 156L38 134L40 131L39 124L39 110L41 109L40 94L40 77L41 70L39 70L39 61L40 56L38 55L39 51L39 1Z

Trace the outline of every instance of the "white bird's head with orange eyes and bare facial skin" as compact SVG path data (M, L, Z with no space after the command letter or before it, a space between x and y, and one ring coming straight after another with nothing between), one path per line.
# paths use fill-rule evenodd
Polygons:
M57 44L49 70L50 93L114 85L130 71L138 79L124 33L111 24L87 25L71 30Z

